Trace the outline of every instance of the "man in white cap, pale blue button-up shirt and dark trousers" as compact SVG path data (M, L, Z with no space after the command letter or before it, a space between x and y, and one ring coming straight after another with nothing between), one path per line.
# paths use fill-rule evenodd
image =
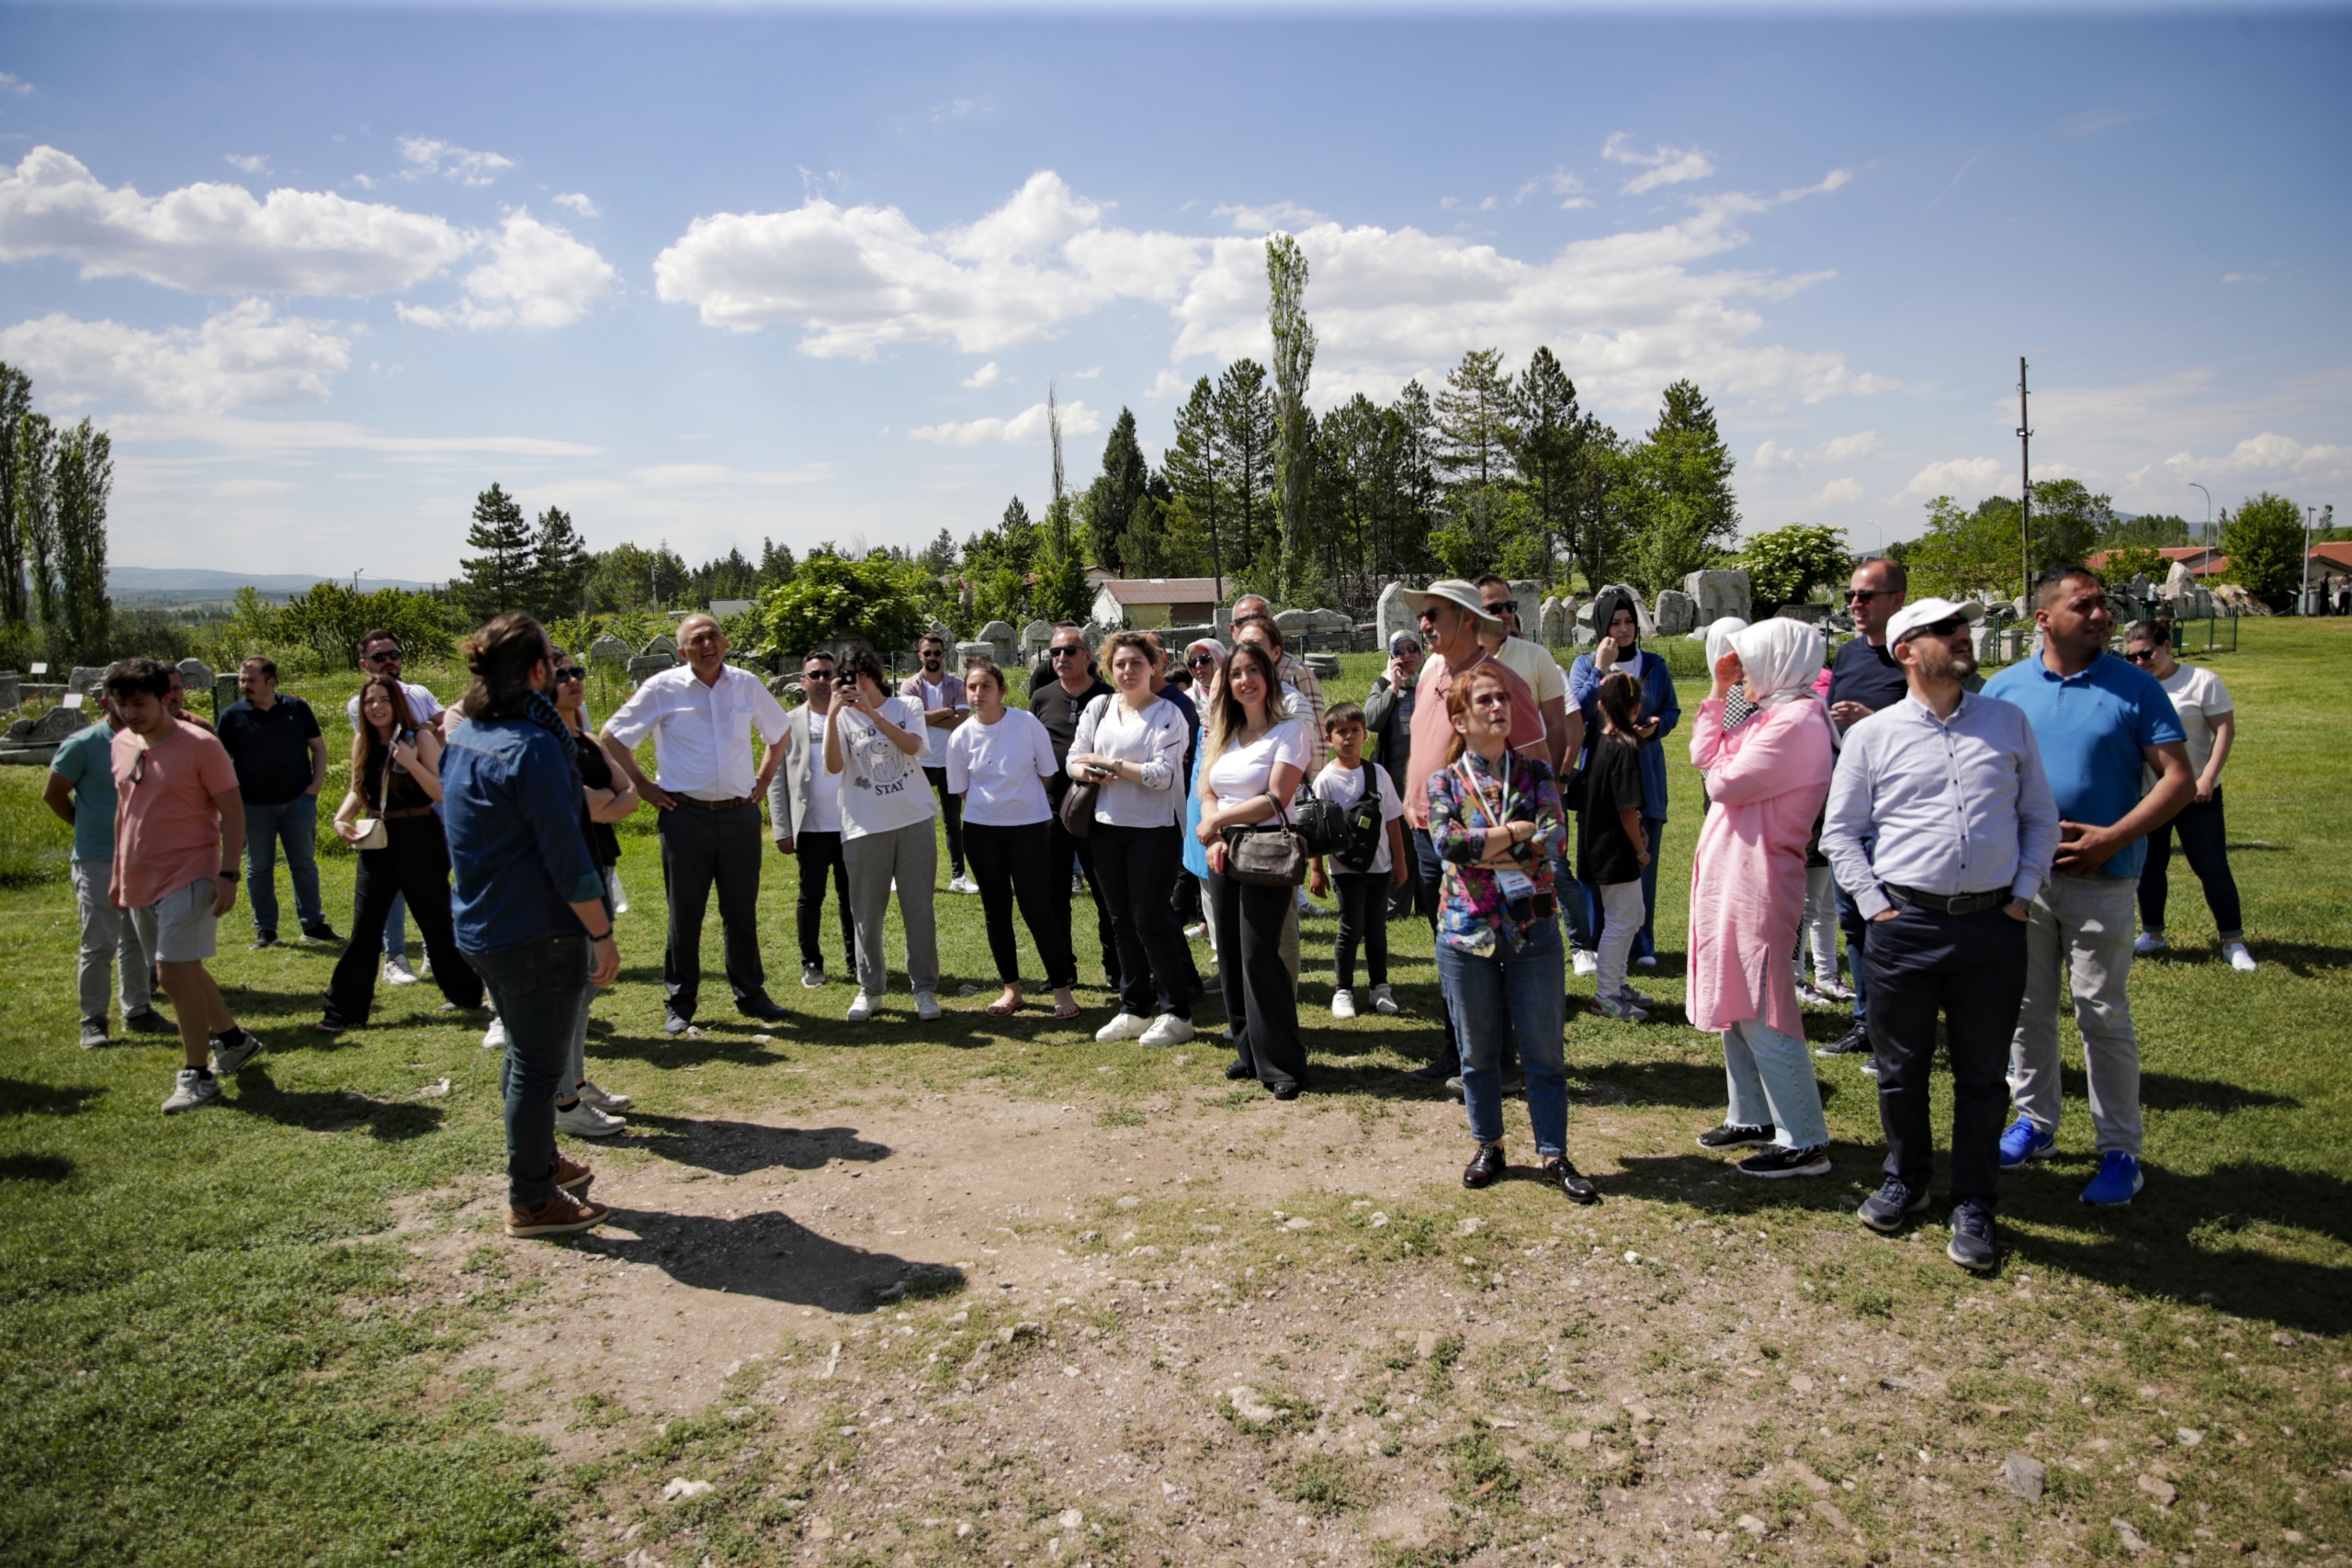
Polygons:
M1870 922L1870 1041L1879 1067L1886 1182L1863 1225L1893 1234L1929 1201L1936 1018L1952 1060L1952 1241L1990 1269L2009 1103L2009 1037L2025 999L2025 924L2058 851L2058 806L2032 724L1976 696L1969 628L1980 604L1922 599L1886 623L1910 693L1846 731L1820 851Z

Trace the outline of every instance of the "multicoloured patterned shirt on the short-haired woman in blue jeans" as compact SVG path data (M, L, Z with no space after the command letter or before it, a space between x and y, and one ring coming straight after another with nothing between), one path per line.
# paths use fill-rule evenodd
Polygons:
M1503 891L1501 872L1508 867L1477 865L1477 858L1486 853L1489 832L1519 820L1536 823L1536 837L1510 851L1512 867L1529 884L1512 898ZM1557 907L1552 858L1562 853L1566 839L1559 780L1545 762L1505 752L1501 766L1489 766L1477 752L1463 752L1454 766L1430 773L1430 844L1446 863L1437 940L1489 954L1505 922L1515 936L1526 938L1529 929L1550 919Z

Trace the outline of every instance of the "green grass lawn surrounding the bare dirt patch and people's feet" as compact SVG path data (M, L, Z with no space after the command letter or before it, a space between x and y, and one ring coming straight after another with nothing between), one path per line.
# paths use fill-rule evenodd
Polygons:
M2352 875L2343 832L2352 743L2338 701L2347 656L2352 623L2249 621L2241 649L2211 661L2241 715L2227 773L2230 844L2263 971L2237 976L2216 961L2211 919L2176 863L2173 954L2133 973L2145 1197L2122 1215L2074 1204L2091 1135L2072 1025L2063 1159L2004 1192L2016 1265L2046 1286L2037 1309L2093 1338L2110 1328L2133 1335L2136 1359L2185 1361L2114 1328L2117 1302L2244 1321L2249 1356L2270 1352L2272 1328L2328 1340L2352 1328ZM1359 698L1381 661L1350 656L1343 665L1331 693ZM447 679L433 684L454 696ZM289 689L313 698L339 752L350 684ZM1691 682L1684 701L1696 710ZM609 705L607 693L600 710ZM1679 738L1670 757L1686 757ZM339 762L322 816L343 771ZM40 811L40 783L35 769L0 769L0 872L19 879L0 889L0 1563L569 1561L557 1530L569 1507L564 1476L543 1446L513 1434L487 1385L459 1385L452 1396L435 1382L468 1335L534 1286L485 1265L463 1291L421 1291L405 1274L405 1251L386 1237L400 1199L503 1182L496 1058L480 1051L480 1023L440 1016L437 992L419 985L381 992L367 1030L332 1041L313 1034L334 952L247 952L240 891L221 926L216 973L268 1051L221 1107L162 1119L176 1041L75 1048L73 896L54 877L66 835ZM1696 804L1696 776L1677 762L1658 910L1665 954L1656 973L1637 973L1661 997L1682 994ZM635 907L619 922L623 978L597 1004L590 1053L600 1079L640 1095L649 1126L753 1110L814 1114L873 1093L953 1093L976 1072L1000 1095L1044 1100L1084 1088L1110 1124L1143 1117L1141 1107L1176 1088L1225 1088L1214 1048L1176 1065L1171 1053L1096 1046L1091 1027L1108 1016L1101 992L1084 992L1084 1030L1056 1030L1040 1013L1002 1027L981 1016L995 985L978 900L946 893L943 992L957 1009L946 1025L913 1023L903 978L891 1020L863 1034L840 1023L847 987L816 992L809 1006L818 1011L802 1013L795 877L781 858L762 875L764 952L776 997L800 1016L764 1030L727 1011L713 917L706 1032L668 1044L659 1037L661 886L649 813L626 825L623 844ZM322 870L329 919L348 926L353 858L327 853ZM941 856L941 882L946 875ZM280 898L289 898L285 884ZM1091 919L1075 924L1080 969L1098 978ZM833 931L828 910L828 950ZM1345 1027L1324 1011L1329 933L1331 922L1308 926L1301 1001L1317 1093L1362 1105L1421 1098L1399 1088L1395 1070L1432 1048L1428 933L1414 924L1390 933L1406 1013ZM955 1001L960 985L981 994ZM1842 1018L1816 1013L1811 1027L1828 1039ZM774 1039L755 1039L760 1032ZM891 1044L842 1048L858 1039ZM1675 1128L1705 1126L1722 1105L1719 1056L1705 1037L1670 1023L1578 1016L1569 1051L1571 1140L1590 1107L1625 1105L1653 1114L1661 1133L1656 1154L1628 1161L1630 1171L1693 1164ZM786 1056L790 1072L779 1070ZM445 1077L445 1095L419 1093ZM1832 1067L1823 1079L1842 1175L1863 1180L1879 1145L1867 1079ZM614 1164L628 1171L630 1161L663 1159L654 1138ZM1451 1166L1432 1168L1430 1180L1451 1182ZM1686 1201L1745 1213L1771 1197ZM1851 1220L1842 1206L1818 1222L1839 1227L1844 1246ZM1804 1246L1809 1232L1792 1234ZM1891 1302L1900 1291L1964 1288L1943 1276L1884 1286ZM2227 1382L2218 1361L2211 1375L2218 1389ZM2237 1418L2253 1446L2251 1467L2284 1474L2291 1458L2300 1472L2324 1474L2352 1462L2345 1406L2328 1413L2328 1389L2319 1392L2319 1427L2305 1425L2303 1436L2260 1425L2256 1392L2227 1396L2253 1401ZM2312 1500L2277 1493L2265 1507L2307 1509L2321 1521L2310 1528L2336 1521L2343 1530L2343 1490Z

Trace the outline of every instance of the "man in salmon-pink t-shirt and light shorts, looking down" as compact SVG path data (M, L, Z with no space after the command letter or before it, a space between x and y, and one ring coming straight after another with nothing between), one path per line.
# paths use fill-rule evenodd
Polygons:
M122 719L108 755L118 797L108 891L162 969L188 1063L162 1103L167 1117L219 1100L219 1074L238 1072L261 1051L205 971L214 926L238 903L245 797L219 736L172 717L172 675L153 658L125 658L106 677Z

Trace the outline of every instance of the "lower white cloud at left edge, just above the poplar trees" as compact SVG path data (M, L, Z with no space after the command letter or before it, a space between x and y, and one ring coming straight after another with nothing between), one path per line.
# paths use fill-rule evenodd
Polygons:
M158 409L209 414L325 400L350 367L334 322L278 317L249 299L202 327L141 331L49 313L0 331L0 357L24 367L47 400L136 397Z

